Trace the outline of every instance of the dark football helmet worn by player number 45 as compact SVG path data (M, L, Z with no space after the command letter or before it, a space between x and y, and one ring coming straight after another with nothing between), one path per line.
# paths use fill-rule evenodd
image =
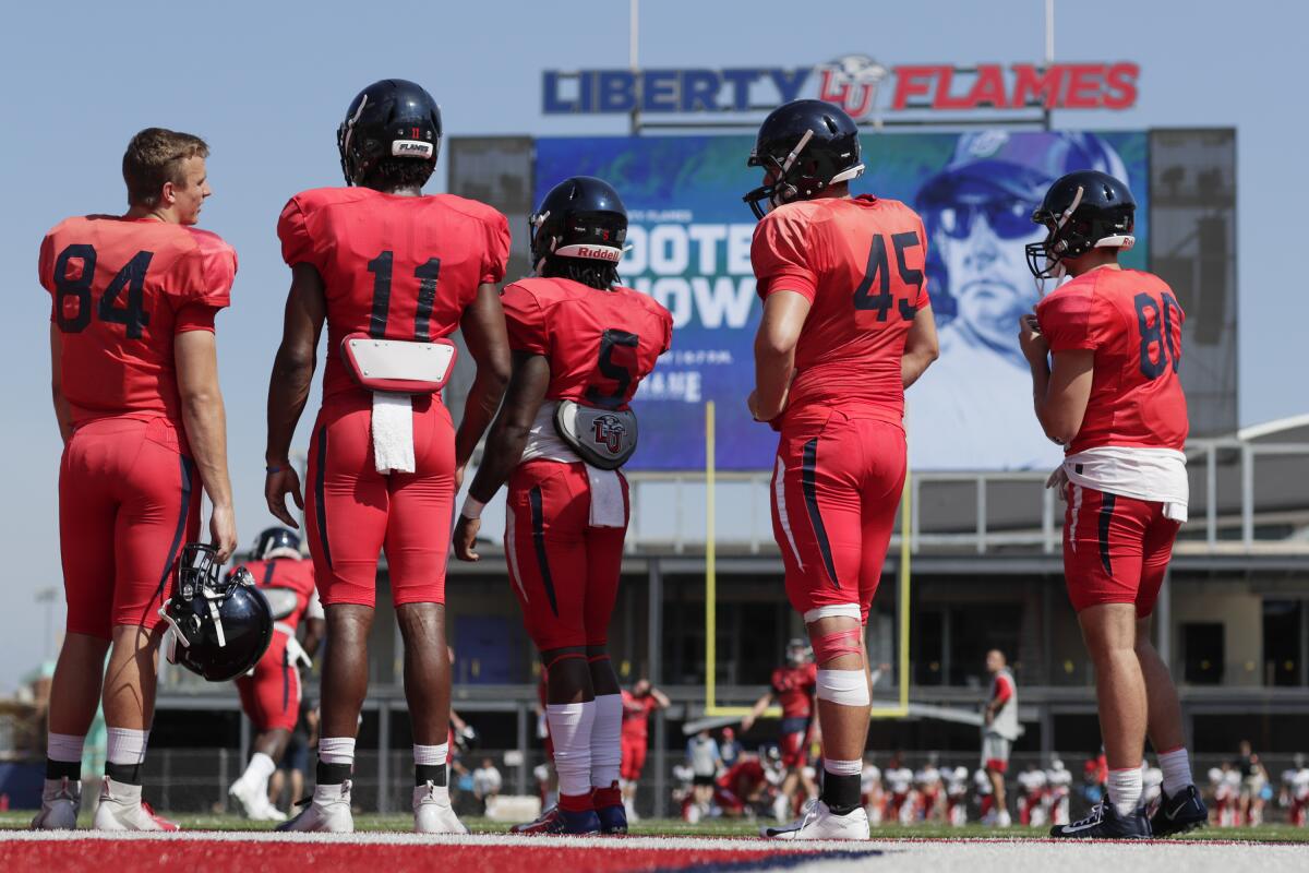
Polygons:
M776 208L808 200L829 185L859 178L859 126L839 106L793 99L763 119L746 164L768 171L763 185L741 198L762 219L764 203Z

